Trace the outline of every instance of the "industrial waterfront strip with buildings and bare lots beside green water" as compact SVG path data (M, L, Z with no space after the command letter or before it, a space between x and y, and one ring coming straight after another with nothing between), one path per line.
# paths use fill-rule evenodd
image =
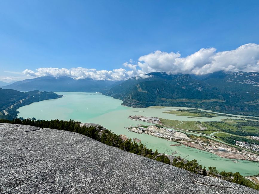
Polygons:
M134 133L145 133L151 136L164 138L168 141L175 141L181 143L188 147L193 147L199 150L208 151L214 153L223 158L230 159L243 159L249 161L259 161L259 156L247 150L238 150L236 147L232 147L230 145L226 145L220 143L218 141L214 141L209 138L205 138L205 136L193 136L185 133L181 133L174 129L169 129L163 126L159 118L155 117L146 117L146 116L129 116L129 119L135 121L145 121L154 125L143 125L138 124L137 126L130 125L129 127L125 127L128 131ZM180 146L181 144L174 144ZM233 162L238 162L233 160Z

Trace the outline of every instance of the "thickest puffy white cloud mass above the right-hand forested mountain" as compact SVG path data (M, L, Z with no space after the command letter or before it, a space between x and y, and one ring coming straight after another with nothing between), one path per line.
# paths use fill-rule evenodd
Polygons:
M235 50L217 52L215 48L200 49L187 57L179 53L155 51L139 58L138 66L145 72L205 74L214 71L259 71L259 45L245 44Z

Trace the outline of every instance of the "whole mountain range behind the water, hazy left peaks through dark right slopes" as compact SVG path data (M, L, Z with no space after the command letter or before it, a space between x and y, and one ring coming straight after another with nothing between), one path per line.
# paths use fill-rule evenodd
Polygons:
M168 75L151 72L148 78L126 81L75 80L70 77L38 77L4 86L19 91L46 90L102 92L130 107L182 106L222 113L259 116L259 73L218 71L206 75Z

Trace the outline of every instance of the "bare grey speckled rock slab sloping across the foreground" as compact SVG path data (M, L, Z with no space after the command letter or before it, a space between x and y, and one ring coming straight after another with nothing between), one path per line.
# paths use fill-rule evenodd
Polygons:
M257 193L78 133L0 124L0 193Z

